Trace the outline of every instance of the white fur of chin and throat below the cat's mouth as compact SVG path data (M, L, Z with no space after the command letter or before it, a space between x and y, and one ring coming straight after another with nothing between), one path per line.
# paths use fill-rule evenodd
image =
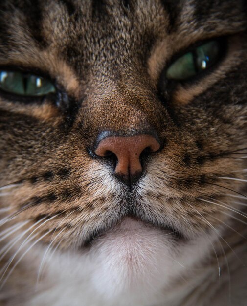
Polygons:
M182 295L172 280L205 258L210 243L202 237L176 243L169 232L125 218L87 252L56 252L46 262L47 283L27 305L171 306L163 301ZM37 249L40 261L44 251Z

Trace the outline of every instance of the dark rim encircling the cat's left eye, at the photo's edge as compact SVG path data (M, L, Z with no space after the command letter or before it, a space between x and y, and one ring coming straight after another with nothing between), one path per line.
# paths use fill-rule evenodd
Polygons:
M37 68L30 68L25 66L12 66L12 65L1 65L0 71L9 71L9 72L19 72L23 74L30 74L33 76L41 77L46 80L49 80L53 86L56 89L56 92L54 93L47 93L44 95L21 95L21 94L15 94L11 93L9 91L6 91L4 89L0 88L0 96L8 101L15 102L15 103L25 103L25 104L31 104L31 103L42 103L45 99L52 100L56 102L56 98L58 96L59 86L54 78L51 78L48 73L45 73L44 71L37 69Z

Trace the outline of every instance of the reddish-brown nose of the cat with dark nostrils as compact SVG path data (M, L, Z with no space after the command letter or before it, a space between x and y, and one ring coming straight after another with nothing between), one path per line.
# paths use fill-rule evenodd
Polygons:
M157 152L159 148L160 144L151 135L109 136L99 142L95 154L110 160L115 175L130 184L142 175L143 157Z

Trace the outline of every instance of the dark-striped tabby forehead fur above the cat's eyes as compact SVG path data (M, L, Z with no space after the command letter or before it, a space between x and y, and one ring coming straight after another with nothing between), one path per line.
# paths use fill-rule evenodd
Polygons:
M168 35L182 34L184 40L190 40L190 36L202 31L204 35L240 31L247 24L247 2L10 0L0 3L0 16L0 44L9 43L13 47L22 37L43 46L55 44L68 54L71 50L76 53L77 46L83 47L81 53L93 51L95 56L102 45L119 51L121 43L129 50L141 45L143 51ZM12 39L6 41L7 35Z

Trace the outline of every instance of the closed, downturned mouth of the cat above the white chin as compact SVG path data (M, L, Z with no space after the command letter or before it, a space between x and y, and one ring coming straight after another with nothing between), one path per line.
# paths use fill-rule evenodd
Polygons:
M124 234L132 235L136 234L136 232L138 231L142 231L143 229L145 229L145 231L150 230L160 232L162 235L167 235L170 239L173 240L185 239L185 236L179 229L173 228L169 225L157 227L157 225L144 222L141 219L128 215L120 219L119 221L113 223L111 226L105 226L101 229L94 230L82 244L82 247L90 247L97 241L107 239L107 237L109 236L112 237L113 234L115 237L117 235Z

